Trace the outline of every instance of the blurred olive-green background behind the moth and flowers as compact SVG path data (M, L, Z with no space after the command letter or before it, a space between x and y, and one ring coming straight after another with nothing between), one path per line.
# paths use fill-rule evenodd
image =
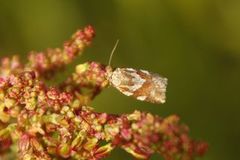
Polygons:
M106 63L120 39L113 67L142 68L169 79L164 105L139 102L109 88L93 102L97 111L178 114L191 136L209 142L202 160L238 159L239 0L0 0L0 56L25 59L32 49L61 46L87 24L97 36L75 64ZM132 157L119 149L107 159Z

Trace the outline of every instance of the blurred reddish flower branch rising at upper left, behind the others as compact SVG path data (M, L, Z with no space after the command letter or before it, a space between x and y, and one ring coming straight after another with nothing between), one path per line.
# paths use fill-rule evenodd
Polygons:
M32 51L28 55L28 62L22 64L17 55L1 59L1 77L21 73L24 70L31 70L37 76L51 78L53 73L64 68L72 60L81 55L83 50L91 44L95 31L92 26L78 30L66 41L63 48L47 49L45 52Z

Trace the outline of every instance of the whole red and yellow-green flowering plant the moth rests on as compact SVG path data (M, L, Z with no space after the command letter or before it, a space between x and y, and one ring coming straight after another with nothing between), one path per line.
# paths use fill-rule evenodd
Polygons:
M154 153L165 160L203 155L207 144L191 139L176 115L95 112L89 102L109 84L104 64L79 64L63 83L45 84L80 55L94 35L93 27L87 26L62 49L30 52L25 64L17 55L1 59L0 159L98 160L117 147L136 159L149 159Z

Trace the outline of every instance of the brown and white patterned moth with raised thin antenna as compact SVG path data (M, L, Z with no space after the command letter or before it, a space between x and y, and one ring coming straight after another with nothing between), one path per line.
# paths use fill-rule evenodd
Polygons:
M146 70L116 68L110 66L112 55L118 45L116 42L106 72L110 85L126 96L151 103L165 103L167 78Z

